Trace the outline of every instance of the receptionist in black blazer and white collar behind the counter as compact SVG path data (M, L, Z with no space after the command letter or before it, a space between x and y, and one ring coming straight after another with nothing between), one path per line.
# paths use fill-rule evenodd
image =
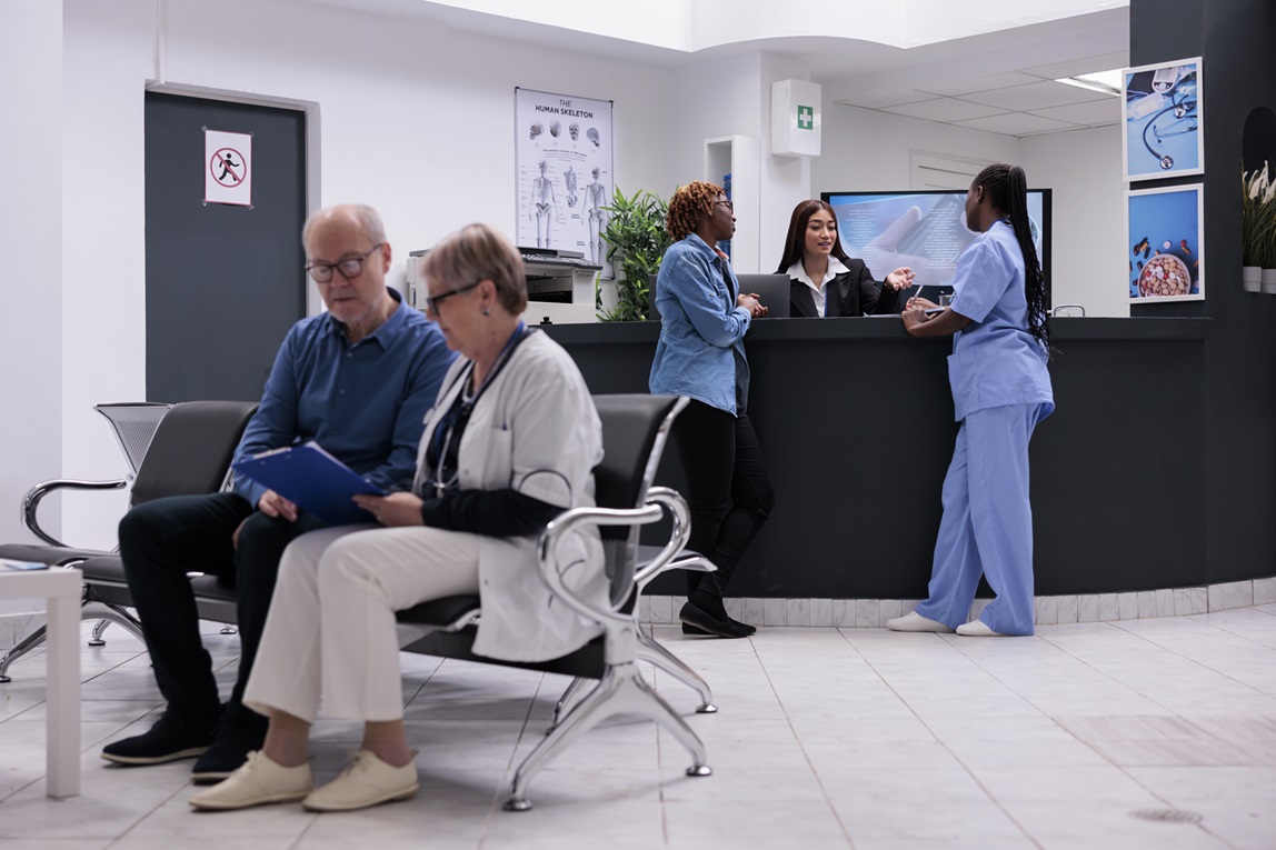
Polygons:
M789 221L789 237L777 274L787 274L792 317L820 318L901 313L902 294L914 273L901 265L873 280L864 260L852 259L837 239L837 217L823 200L803 200Z

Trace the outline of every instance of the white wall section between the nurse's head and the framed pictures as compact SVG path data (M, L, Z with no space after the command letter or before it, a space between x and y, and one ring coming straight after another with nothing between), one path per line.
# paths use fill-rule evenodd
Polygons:
M1051 278L1055 304L1086 315L1128 317L1125 185L1120 126L1028 137L1020 165L1034 186L1054 189Z

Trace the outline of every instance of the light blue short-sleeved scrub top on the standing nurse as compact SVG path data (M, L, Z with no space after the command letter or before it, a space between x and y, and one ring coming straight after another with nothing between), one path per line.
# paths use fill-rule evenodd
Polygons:
M948 382L957 421L1004 405L1045 405L1054 410L1048 352L1028 333L1023 253L1005 221L980 234L957 258L954 313L971 324L953 336Z

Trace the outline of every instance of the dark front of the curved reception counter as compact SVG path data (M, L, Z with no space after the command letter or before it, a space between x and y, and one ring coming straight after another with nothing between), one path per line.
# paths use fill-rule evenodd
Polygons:
M1053 322L1057 410L1031 448L1037 595L1205 583L1210 324ZM647 392L658 324L542 327L592 392ZM951 339L914 339L896 317L768 319L745 347L776 509L731 595L924 597L957 433ZM658 482L684 489L676 449Z

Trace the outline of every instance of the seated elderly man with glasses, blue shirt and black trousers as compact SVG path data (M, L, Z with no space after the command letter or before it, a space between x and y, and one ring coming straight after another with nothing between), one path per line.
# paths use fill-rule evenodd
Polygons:
M425 415L454 355L425 315L385 286L390 245L366 205L314 213L301 231L306 271L328 311L297 322L279 348L262 405L235 459L318 442L385 490L411 485ZM236 477L228 493L157 499L120 521L120 555L167 707L149 731L102 758L160 764L194 758L197 781L221 780L260 749L265 717L244 707L279 558L323 527L279 494ZM223 706L199 636L189 572L237 588L241 655Z

